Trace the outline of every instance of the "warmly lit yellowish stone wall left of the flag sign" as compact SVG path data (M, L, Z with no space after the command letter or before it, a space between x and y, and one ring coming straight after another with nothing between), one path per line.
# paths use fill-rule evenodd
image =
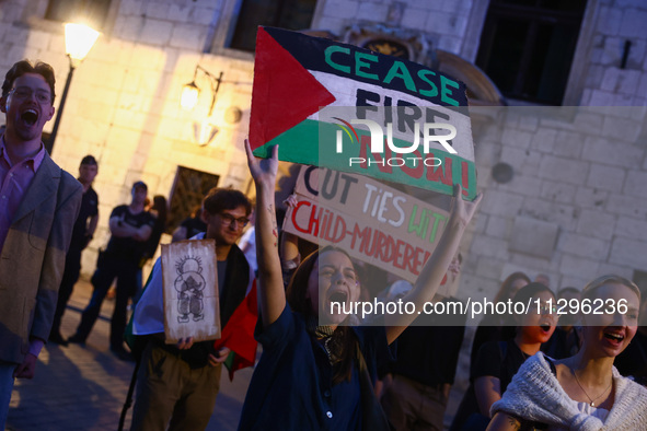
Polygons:
M94 269L96 247L109 236L112 208L130 199L135 180L149 194L169 196L177 166L220 176L220 185L245 188L249 182L242 140L246 136L252 93L253 59L203 54L213 25L224 20L221 3L207 0L113 1L114 19L76 69L53 152L76 174L81 158L96 156L100 170L100 228L83 256L83 271ZM60 23L45 20L47 2L12 0L0 4L0 46L7 70L22 58L49 62L56 70L58 108L68 73ZM201 89L194 112L180 107L182 86L196 65L223 80L212 119L220 131L208 147L194 143L193 123L207 117L210 82L198 73ZM242 110L238 124L224 120L229 107ZM50 131L50 121L45 131Z

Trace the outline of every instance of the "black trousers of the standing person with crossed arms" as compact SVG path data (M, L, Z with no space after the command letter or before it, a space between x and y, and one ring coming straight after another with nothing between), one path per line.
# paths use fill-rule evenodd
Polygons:
M115 311L111 322L111 348L123 348L124 331L126 330L126 312L128 307L128 299L137 291L137 272L139 261L131 263L129 260L117 259L112 256L104 256L94 276L92 276L92 299L90 304L83 311L81 323L77 328L77 337L85 341L94 322L99 317L101 304L113 283L117 279L117 296L115 299Z

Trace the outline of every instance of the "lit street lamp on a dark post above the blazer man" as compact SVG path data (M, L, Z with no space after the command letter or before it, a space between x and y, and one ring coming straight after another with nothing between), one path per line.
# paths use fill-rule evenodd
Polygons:
M66 86L62 90L62 95L60 96L60 104L58 105L58 114L56 114L56 120L54 121L54 127L51 129L51 135L49 136L49 140L45 144L45 149L51 154L51 150L54 150L54 140L56 139L56 133L58 132L58 126L60 124L60 118L62 117L62 109L66 104L66 98L68 97L68 91L70 90L70 83L72 82L72 74L74 74L74 69L83 61L96 38L99 37L99 32L90 28L83 24L66 24L66 55L70 60L70 71L68 72L68 79L66 80Z

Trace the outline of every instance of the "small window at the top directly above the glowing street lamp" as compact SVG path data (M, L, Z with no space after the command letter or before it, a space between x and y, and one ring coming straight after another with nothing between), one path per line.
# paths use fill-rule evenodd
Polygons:
M60 22L83 22L102 30L109 9L111 0L50 0L45 18Z

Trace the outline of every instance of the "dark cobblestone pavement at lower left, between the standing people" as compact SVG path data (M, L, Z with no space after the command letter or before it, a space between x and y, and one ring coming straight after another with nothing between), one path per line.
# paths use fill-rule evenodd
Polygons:
M88 304L92 286L74 287L63 316L61 333L69 337ZM113 302L105 301L85 347L47 345L39 356L36 376L16 380L5 430L116 430L132 369L108 349ZM236 372L233 382L226 370L208 430L235 430L252 370ZM125 429L130 427L130 411Z

